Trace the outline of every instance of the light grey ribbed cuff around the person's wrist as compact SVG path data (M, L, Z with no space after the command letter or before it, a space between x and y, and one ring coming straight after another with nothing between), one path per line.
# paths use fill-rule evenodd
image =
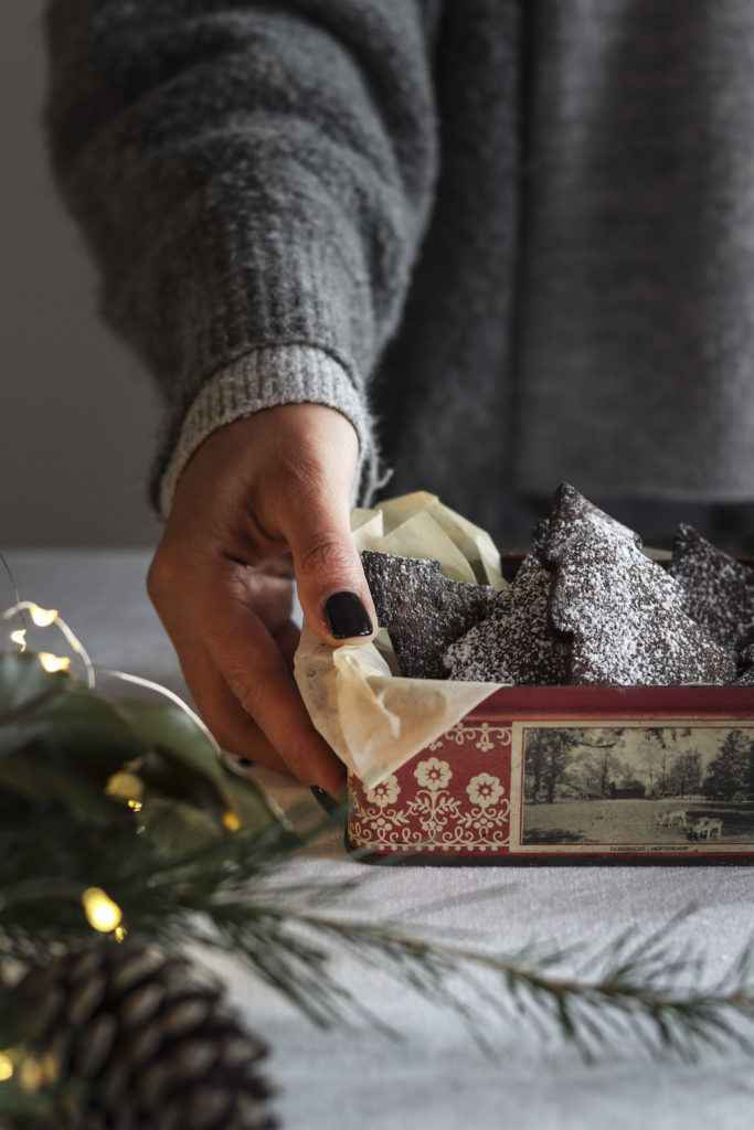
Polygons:
M183 420L159 486L166 518L179 477L194 451L225 424L278 405L327 405L341 412L358 436L353 503L367 505L379 485L378 457L369 409L346 370L314 346L261 346L220 368L202 385Z

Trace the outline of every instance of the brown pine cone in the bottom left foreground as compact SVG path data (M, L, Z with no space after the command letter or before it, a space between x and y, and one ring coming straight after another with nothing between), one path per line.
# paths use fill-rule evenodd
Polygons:
M79 1109L69 1113L86 1130L278 1124L257 1072L267 1046L190 962L107 941L55 957L18 991L35 1048L75 1085Z

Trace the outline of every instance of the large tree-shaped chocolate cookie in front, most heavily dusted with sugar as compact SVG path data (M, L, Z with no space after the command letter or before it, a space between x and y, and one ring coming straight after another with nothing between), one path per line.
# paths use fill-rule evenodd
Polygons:
M554 570L551 623L571 636L567 681L733 683L734 660L686 616L683 589L640 546L633 530L561 484L543 554Z

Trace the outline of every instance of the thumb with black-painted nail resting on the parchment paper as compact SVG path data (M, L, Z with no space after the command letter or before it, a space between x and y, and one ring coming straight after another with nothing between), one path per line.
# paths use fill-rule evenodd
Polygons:
M366 642L376 615L350 536L348 493L310 489L286 533L310 627L326 643Z

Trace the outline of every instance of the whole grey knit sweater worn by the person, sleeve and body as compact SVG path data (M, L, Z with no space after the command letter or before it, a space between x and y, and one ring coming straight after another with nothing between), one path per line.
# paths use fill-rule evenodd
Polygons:
M165 395L153 498L292 401L362 495L754 498L748 0L53 0L47 123Z

